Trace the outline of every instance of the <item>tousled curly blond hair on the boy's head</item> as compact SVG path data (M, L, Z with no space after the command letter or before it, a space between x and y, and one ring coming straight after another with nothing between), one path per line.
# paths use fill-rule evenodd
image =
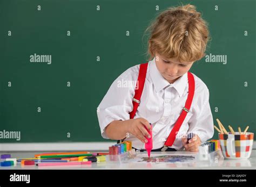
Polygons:
M160 13L147 27L147 55L152 59L156 52L166 59L192 62L205 56L209 31L194 5L171 7Z

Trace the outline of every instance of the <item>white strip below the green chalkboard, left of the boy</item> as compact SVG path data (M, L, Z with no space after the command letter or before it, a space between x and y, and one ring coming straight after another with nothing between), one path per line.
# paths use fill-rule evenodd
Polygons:
M109 150L117 142L0 143L3 151Z

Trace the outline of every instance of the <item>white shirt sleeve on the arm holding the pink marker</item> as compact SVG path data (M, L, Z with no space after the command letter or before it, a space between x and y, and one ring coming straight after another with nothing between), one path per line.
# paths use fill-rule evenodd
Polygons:
M127 71L126 73L131 74ZM131 76L120 75L110 86L102 102L97 107L97 116L102 137L106 136L105 128L114 120L130 119L130 112L133 109L132 98L136 81Z

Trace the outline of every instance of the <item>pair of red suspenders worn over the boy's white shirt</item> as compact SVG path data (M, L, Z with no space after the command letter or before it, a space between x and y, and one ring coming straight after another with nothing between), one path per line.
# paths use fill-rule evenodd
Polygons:
M133 119L136 111L138 109L139 103L140 103L140 97L142 96L143 88L144 88L144 83L146 79L146 73L147 73L147 64L148 63L143 63L140 64L139 67L139 76L138 76L138 82L136 84L136 90L134 97L132 99L132 104L133 104L133 110L130 112L130 119ZM187 72L187 78L188 78L188 96L187 100L185 103L185 107L183 108L178 120L174 124L174 127L172 128L172 131L170 135L168 136L164 147L161 149L161 151L166 150L169 146L173 145L174 140L176 139L176 135L179 132L180 126L182 125L185 117L187 116L187 113L190 110L190 106L194 97L194 76L190 73Z

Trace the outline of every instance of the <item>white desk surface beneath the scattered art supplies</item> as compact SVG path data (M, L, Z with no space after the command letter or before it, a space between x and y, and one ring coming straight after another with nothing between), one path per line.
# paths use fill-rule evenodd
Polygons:
M11 157L17 159L34 157L35 154L42 152L0 152L0 154L11 154ZM183 154L191 155L192 152L154 152L152 154L174 155ZM100 162L91 165L82 166L54 166L54 167L37 167L35 166L17 166L0 167L0 169L256 169L256 150L252 150L251 157L247 160L223 160L218 163L207 161L192 161L190 163L116 163Z

